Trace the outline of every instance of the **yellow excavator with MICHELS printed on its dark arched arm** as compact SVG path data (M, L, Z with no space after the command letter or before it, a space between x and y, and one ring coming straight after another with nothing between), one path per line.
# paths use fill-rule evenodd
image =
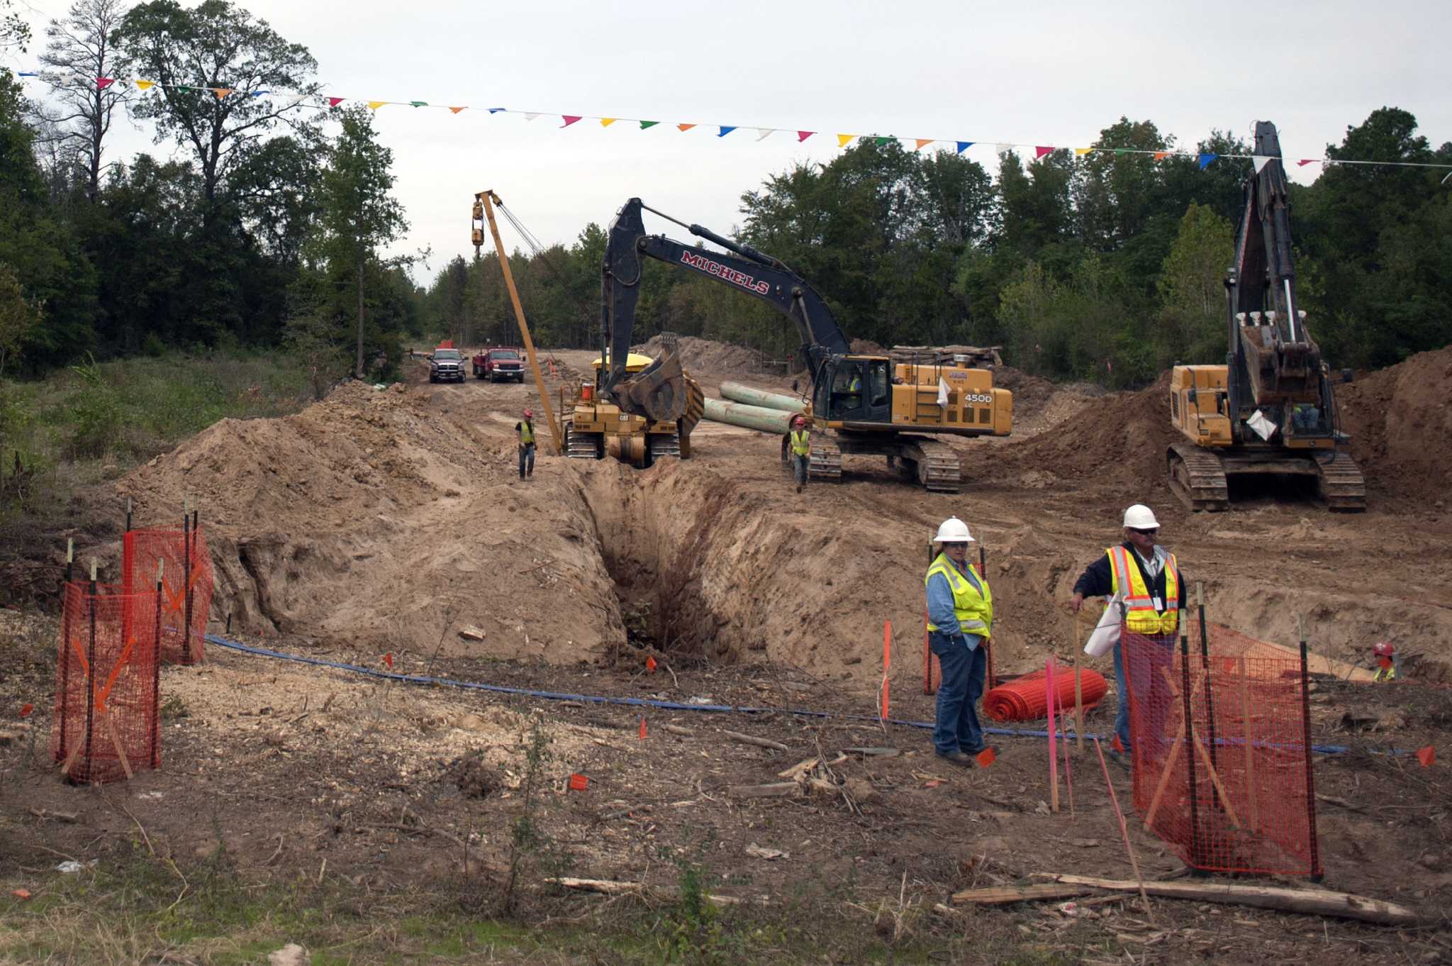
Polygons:
M646 234L642 211L732 254ZM822 296L780 260L677 221L639 198L626 202L610 222L601 286L604 366L597 386L598 395L614 401L621 414L659 418L652 407L659 407L661 414L684 414L690 392L677 375L680 362L671 352L639 372L630 372L627 365L646 257L698 272L767 302L796 322L802 359L812 378L810 404L803 410L817 430L809 468L815 479L839 479L842 453L873 455L886 456L928 490L957 492L961 485L957 452L929 436L1008 436L1012 430L1013 395L993 386L989 369L937 353L906 362L854 353ZM680 401L681 408L661 405L664 401L672 407Z

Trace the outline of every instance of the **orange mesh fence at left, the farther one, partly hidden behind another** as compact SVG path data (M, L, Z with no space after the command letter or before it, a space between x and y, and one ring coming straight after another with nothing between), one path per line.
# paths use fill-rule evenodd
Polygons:
M122 585L152 590L161 562L161 659L199 664L212 612L212 553L200 529L129 530L122 540ZM190 632L187 632L190 629Z

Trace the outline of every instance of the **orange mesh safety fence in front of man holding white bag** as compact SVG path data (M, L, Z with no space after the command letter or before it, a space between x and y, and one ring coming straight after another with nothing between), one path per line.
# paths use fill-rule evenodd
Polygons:
M1196 869L1320 874L1301 661L1188 644L1121 635L1135 811Z

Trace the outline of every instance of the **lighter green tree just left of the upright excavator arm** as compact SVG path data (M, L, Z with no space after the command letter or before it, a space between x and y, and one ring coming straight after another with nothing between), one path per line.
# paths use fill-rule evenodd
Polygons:
M1159 293L1165 325L1160 366L1220 362L1225 353L1225 270L1234 257L1234 228L1204 205L1191 203L1165 257Z

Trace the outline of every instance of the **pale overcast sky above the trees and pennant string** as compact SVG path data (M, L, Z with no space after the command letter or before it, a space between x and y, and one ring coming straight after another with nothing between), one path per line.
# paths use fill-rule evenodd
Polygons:
M9 58L25 70L45 22L70 0L16 6L38 38L32 58ZM831 160L838 132L979 141L967 157L990 169L996 142L1089 145L1121 115L1153 121L1185 147L1212 128L1249 138L1268 119L1288 157L1321 157L1347 125L1390 105L1414 113L1433 145L1452 139L1446 0L240 6L308 46L330 94L470 106L457 116L386 106L376 116L408 209L407 247L431 247L431 270L472 256L476 190L498 192L546 243L572 243L632 196L727 232L742 192ZM526 122L491 116L491 106L549 113ZM559 113L662 123L560 129ZM682 134L665 122L701 126ZM743 129L717 138L711 125ZM745 129L756 126L819 134L756 141ZM161 150L148 141L135 131L116 151ZM1304 179L1318 169L1291 170ZM658 219L646 227L681 234ZM523 243L505 234L505 244Z

